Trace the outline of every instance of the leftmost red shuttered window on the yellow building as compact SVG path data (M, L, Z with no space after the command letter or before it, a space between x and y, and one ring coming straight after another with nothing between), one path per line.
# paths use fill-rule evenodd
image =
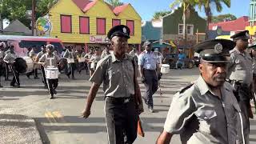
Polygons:
M61 32L72 33L72 17L71 15L61 15Z

